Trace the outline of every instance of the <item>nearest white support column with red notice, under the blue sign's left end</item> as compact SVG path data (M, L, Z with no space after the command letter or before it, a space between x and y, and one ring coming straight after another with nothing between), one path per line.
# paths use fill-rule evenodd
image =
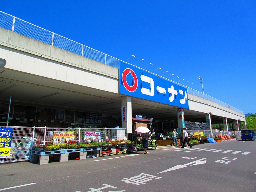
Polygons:
M124 110L126 110L124 114ZM132 133L132 98L122 96L122 128L126 128L127 133ZM126 118L123 118L124 115Z

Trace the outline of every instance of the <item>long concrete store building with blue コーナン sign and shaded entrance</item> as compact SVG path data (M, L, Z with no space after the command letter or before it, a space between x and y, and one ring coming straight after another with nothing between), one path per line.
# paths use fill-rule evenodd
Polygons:
M242 111L210 96L57 34L39 41L10 24L0 28L2 126L119 126L129 133L132 118L140 115L153 119L156 133L185 121L212 129L246 128Z

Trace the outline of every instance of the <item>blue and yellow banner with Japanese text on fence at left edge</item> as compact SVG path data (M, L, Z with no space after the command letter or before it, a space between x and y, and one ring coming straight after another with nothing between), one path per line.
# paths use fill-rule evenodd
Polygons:
M12 144L12 128L0 128L0 158L10 156Z

